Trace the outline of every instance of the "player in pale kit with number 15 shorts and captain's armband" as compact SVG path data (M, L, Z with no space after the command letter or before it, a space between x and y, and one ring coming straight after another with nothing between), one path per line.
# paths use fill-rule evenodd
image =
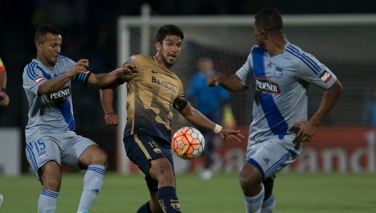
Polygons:
M60 55L61 31L50 24L38 27L34 42L37 58L24 68L23 87L29 101L26 156L43 185L38 212L55 212L62 165L87 170L77 212L88 212L103 184L107 154L94 141L74 132L71 80L101 88L138 69L124 64L109 73L91 73L86 70L89 60L74 62Z

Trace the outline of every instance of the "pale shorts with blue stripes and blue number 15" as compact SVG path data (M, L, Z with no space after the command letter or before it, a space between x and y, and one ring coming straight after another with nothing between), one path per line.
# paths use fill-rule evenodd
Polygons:
M78 158L92 145L93 140L76 135L75 132L51 132L28 135L26 138L26 157L38 176L38 171L48 161L56 161L60 166L79 169Z

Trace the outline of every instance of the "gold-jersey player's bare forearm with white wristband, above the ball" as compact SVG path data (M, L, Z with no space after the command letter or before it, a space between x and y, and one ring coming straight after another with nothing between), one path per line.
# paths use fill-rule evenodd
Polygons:
M214 131L216 124L209 120L206 116L202 115L200 111L193 108L189 102L185 108L177 110L182 116L184 116L184 118L186 118L192 124L211 132ZM233 130L228 127L222 127L220 132L218 132L217 134L224 140L229 140L233 138L236 141L240 142L240 138L244 138L244 136L240 134L240 130Z

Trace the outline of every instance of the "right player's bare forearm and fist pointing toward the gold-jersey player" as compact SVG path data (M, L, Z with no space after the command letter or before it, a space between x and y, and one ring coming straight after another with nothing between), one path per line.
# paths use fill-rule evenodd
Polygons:
M213 73L208 76L208 78L206 79L206 83L210 87L220 85L225 90L231 92L240 92L248 89L248 87L245 87L240 83L240 80L236 75L224 77Z

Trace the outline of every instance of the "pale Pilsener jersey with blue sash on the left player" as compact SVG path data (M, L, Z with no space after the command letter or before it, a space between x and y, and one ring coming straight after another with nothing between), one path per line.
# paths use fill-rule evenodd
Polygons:
M73 131L74 119L71 99L71 80L59 91L38 95L38 88L46 80L59 77L73 68L75 62L70 58L60 56L57 63L50 70L41 61L33 59L27 64L23 73L23 87L29 102L28 123L25 128L26 137L38 132ZM87 74L79 74L89 78Z

